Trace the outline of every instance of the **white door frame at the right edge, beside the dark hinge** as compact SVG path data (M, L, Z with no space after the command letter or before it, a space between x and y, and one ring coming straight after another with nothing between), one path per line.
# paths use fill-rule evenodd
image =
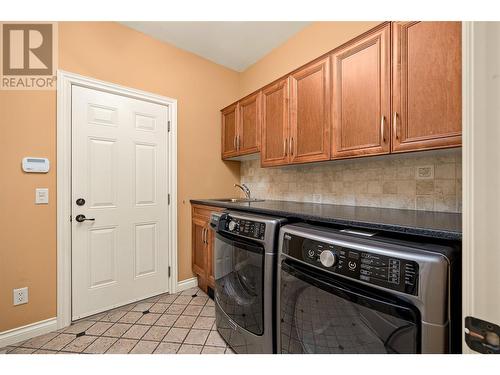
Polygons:
M495 29L493 29L495 27ZM498 132L498 22L462 23L462 127L463 127L463 213L462 213L462 349L475 353L465 343L465 317L498 324L500 309L494 302L498 267L493 254L498 250L494 235L496 206L487 206L496 194L500 174ZM488 150L485 153L484 150ZM485 181L490 186L485 186ZM485 204L486 203L486 204ZM479 212L478 212L479 211ZM491 265L482 269L486 262ZM493 271L493 272L492 272ZM493 274L494 273L494 274ZM485 290L486 289L486 290ZM491 292L497 291L496 295Z

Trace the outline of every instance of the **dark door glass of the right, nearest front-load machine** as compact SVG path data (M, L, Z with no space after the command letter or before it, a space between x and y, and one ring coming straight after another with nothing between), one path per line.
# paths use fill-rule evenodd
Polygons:
M418 353L416 308L298 264L281 264L282 353Z

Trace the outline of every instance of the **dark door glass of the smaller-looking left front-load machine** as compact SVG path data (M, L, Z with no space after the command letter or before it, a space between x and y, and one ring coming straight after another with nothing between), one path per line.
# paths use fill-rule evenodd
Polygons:
M216 234L215 298L240 327L264 333L264 249L233 236Z

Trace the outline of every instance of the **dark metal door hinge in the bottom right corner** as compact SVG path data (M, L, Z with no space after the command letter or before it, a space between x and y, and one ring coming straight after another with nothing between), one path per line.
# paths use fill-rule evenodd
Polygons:
M465 318L465 342L476 352L500 354L500 326L468 316Z

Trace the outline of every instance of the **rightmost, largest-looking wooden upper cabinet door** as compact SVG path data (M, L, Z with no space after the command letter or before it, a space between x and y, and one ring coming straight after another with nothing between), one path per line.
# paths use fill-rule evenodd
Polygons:
M393 25L392 150L460 146L460 22Z

